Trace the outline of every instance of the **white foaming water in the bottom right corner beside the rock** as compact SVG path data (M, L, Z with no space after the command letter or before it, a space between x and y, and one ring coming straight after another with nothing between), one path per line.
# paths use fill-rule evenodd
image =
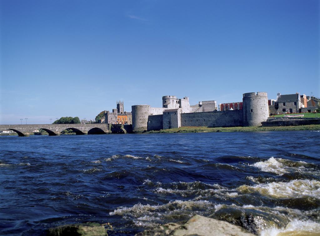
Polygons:
M316 236L320 235L320 224L314 221L302 221L293 220L287 224L285 228L278 229L276 227L271 227L263 230L260 236L293 236L293 235L309 235Z

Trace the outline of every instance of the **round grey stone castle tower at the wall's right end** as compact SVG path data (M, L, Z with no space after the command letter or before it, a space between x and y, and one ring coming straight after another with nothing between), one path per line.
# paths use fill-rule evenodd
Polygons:
M243 94L243 126L261 126L269 116L268 94L264 92Z

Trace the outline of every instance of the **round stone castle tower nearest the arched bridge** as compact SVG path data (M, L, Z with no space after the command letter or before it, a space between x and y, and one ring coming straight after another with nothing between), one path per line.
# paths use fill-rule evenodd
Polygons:
M134 105L132 108L132 132L139 133L147 130L150 105Z

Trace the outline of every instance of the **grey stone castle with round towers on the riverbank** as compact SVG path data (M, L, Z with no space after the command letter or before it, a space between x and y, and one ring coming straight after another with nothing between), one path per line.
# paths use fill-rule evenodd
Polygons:
M132 131L143 132L182 126L260 126L269 116L265 92L243 94L242 110L217 110L216 101L190 106L189 98L163 96L162 107L132 106Z

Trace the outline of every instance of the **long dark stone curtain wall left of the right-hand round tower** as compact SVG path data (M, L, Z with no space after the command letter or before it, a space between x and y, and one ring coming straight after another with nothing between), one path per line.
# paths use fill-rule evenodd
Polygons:
M242 125L242 110L181 113L181 126L232 127Z

